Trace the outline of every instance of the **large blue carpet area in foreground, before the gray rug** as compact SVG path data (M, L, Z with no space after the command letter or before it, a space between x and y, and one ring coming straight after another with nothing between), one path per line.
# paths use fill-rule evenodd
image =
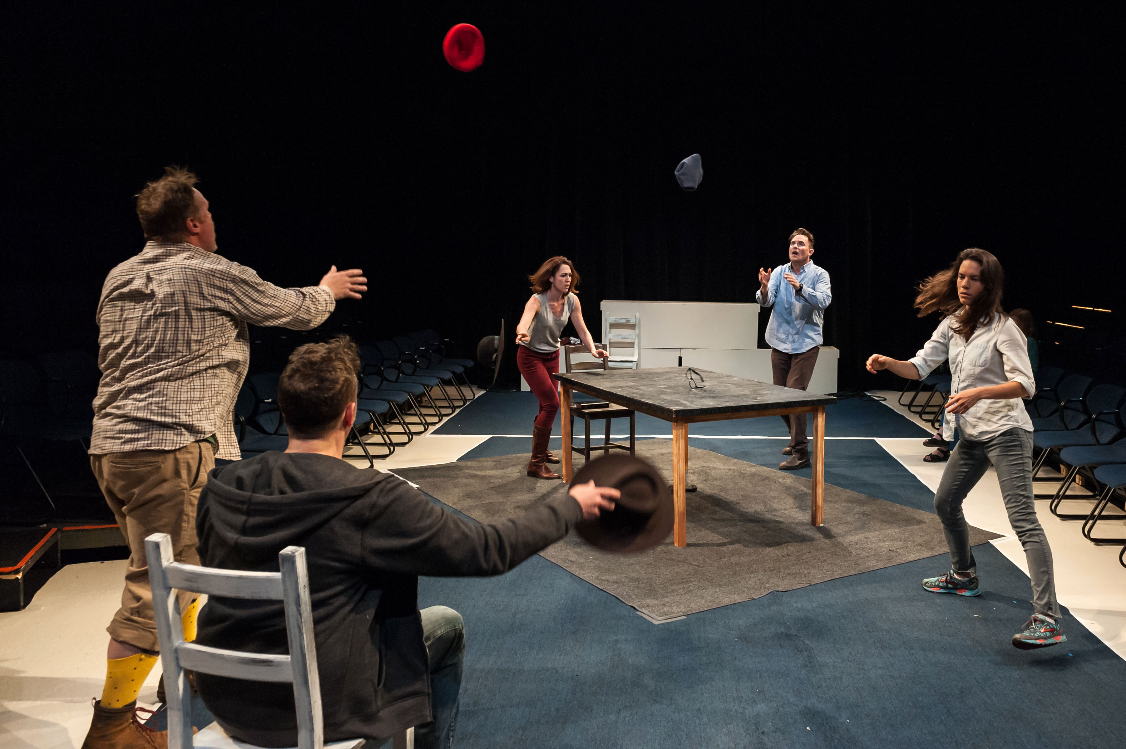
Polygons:
M654 625L534 557L419 601L465 617L463 749L1121 746L1126 664L1070 616L1012 648L1028 578L974 551L977 598L920 588L942 556Z

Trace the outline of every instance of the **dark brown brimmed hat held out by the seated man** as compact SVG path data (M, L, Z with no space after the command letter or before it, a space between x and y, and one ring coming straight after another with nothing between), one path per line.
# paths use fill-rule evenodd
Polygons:
M611 454L580 468L571 486L593 481L622 491L614 509L575 526L589 544L605 551L643 551L672 533L672 493L661 471L636 455Z

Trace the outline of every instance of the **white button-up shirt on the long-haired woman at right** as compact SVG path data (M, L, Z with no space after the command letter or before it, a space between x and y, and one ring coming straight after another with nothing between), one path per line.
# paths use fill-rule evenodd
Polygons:
M1017 381L1024 386L1025 397L1033 397L1036 381L1028 360L1028 339L1015 322L1004 315L994 315L978 325L966 341L950 330L953 319L953 315L945 317L930 341L909 360L919 370L919 379L949 360L951 394ZM1031 432L1033 419L1020 398L978 400L964 414L946 415L942 439L953 440L955 426L963 439L983 442L1013 427Z

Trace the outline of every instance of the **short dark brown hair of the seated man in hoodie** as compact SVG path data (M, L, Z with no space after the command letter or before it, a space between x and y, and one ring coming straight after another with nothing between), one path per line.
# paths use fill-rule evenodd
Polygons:
M331 432L356 401L359 368L359 349L347 335L297 346L278 381L278 406L289 434L309 439Z

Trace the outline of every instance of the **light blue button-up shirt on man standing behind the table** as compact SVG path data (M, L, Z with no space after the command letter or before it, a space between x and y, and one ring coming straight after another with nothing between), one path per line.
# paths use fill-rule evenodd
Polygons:
M825 319L825 307L832 301L833 292L829 286L829 272L824 268L806 261L794 278L802 285L798 292L783 278L784 273L794 273L789 263L784 263L770 273L767 285L767 298L762 298L762 289L754 298L763 307L774 307L770 323L767 324L767 343L771 349L784 353L802 353L813 346L820 346L824 340L821 336L821 325Z

